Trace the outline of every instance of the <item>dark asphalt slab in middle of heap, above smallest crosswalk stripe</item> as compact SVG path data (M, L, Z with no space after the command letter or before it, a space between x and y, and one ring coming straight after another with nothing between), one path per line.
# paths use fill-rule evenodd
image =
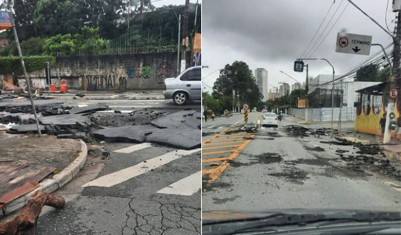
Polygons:
M155 130L154 126L121 126L98 130L92 135L109 143L143 143L146 135Z

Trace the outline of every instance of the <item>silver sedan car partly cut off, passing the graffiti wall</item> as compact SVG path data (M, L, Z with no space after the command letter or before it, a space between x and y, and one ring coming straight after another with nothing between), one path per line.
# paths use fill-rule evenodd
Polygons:
M174 104L183 105L189 100L202 99L201 66L190 67L177 77L164 80L163 95L173 99Z

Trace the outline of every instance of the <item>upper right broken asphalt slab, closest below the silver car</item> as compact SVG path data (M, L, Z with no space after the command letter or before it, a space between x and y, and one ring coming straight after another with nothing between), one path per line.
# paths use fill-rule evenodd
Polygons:
M198 126L201 125L201 114L194 110L178 111L151 121L151 124L161 129L198 130Z

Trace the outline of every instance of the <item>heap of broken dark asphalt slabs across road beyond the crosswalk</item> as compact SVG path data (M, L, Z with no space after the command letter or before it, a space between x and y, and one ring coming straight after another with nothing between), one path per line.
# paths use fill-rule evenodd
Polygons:
M39 118L39 128L41 133L57 138L82 139L86 143L97 139L107 142L148 142L181 149L201 147L201 114L196 111L184 110L173 114L151 109L134 110L129 114L96 112L108 108L105 104L69 107L67 110L70 114L66 114L66 106L43 106L38 109L43 112ZM1 109L15 113L31 111L30 106L2 106ZM21 122L18 117L9 116L6 121L9 119ZM7 132L37 133L34 123L13 126Z

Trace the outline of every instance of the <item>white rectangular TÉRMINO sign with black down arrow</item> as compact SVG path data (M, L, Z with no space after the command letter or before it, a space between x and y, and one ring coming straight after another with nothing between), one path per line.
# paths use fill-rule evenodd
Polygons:
M369 55L372 36L351 33L338 33L336 41L337 53Z

